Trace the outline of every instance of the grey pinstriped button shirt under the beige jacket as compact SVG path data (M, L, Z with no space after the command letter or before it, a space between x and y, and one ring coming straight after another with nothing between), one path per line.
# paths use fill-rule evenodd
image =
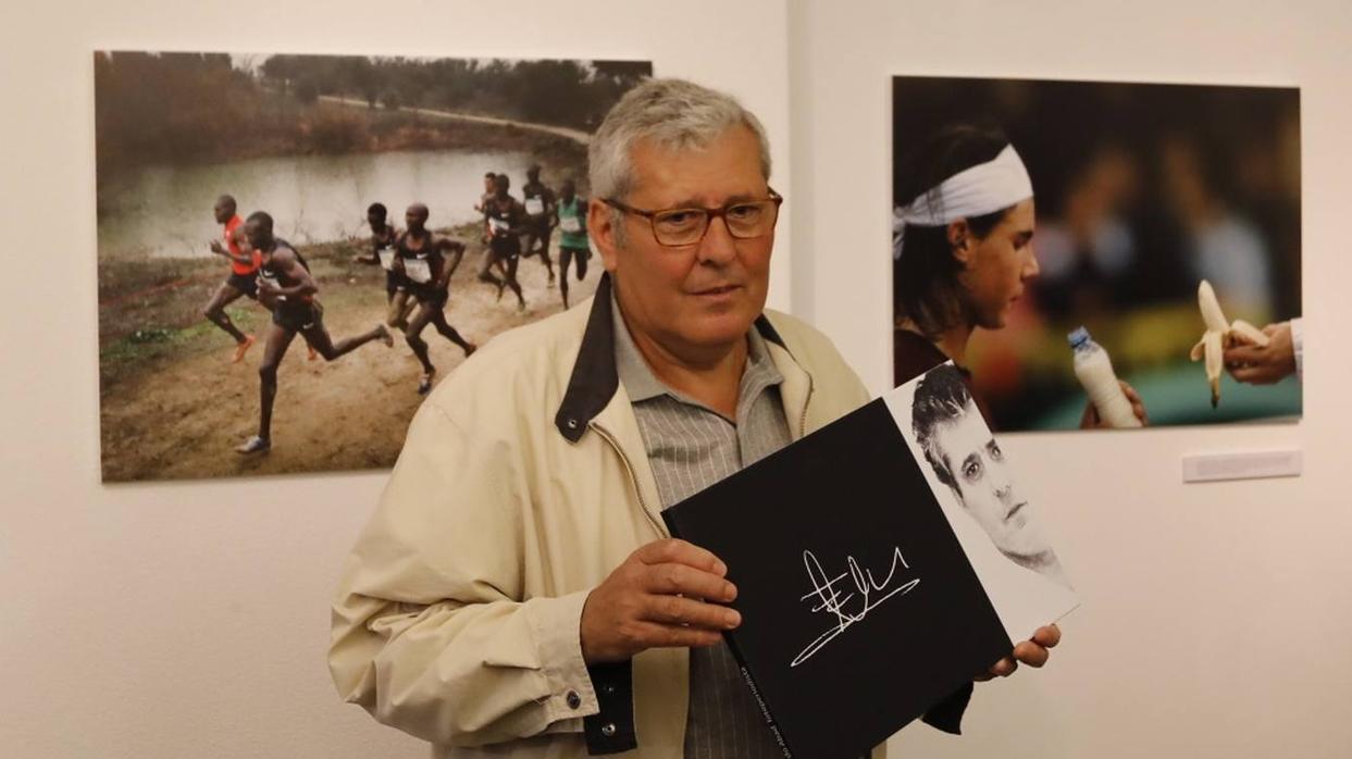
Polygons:
M790 443L788 420L779 394L784 377L754 328L746 334L749 355L735 419L727 419L664 385L638 352L619 305L612 303L611 307L615 366L638 419L662 508L679 504ZM727 644L691 648L685 758L783 755Z

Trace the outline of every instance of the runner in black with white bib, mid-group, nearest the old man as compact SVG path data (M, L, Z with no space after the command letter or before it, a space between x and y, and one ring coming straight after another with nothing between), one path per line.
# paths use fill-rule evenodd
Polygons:
M408 207L404 221L407 230L395 243L397 251L395 266L403 271L408 293L418 298L418 311L404 328L404 340L423 365L422 381L418 384L418 393L423 394L431 390L431 381L437 374L437 367L427 355L427 343L422 339L422 331L429 323L442 338L460 346L466 358L477 350L477 346L460 336L460 332L446 321L445 312L446 301L450 300L450 276L465 258L465 246L456 240L437 239L427 228L427 207L422 203ZM450 262L442 251L450 253Z

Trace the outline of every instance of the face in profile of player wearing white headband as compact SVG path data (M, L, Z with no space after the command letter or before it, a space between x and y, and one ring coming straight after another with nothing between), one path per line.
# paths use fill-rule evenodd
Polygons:
M968 242L967 266L959 274L973 327L999 330L1010 308L1023 296L1025 284L1037 277L1033 253L1033 199L1019 201L984 238Z

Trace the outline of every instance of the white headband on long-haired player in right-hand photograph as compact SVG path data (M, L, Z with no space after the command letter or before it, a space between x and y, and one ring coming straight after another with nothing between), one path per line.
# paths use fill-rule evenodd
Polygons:
M906 224L944 227L959 219L984 216L1033 197L1033 180L1013 145L999 155L953 174L892 215L892 258L902 257Z

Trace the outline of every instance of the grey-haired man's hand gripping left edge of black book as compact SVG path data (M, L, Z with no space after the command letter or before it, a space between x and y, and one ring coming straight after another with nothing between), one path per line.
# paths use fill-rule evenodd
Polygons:
M727 566L684 540L642 546L587 596L581 619L583 659L622 662L657 647L714 646L741 624L729 602L737 587Z

